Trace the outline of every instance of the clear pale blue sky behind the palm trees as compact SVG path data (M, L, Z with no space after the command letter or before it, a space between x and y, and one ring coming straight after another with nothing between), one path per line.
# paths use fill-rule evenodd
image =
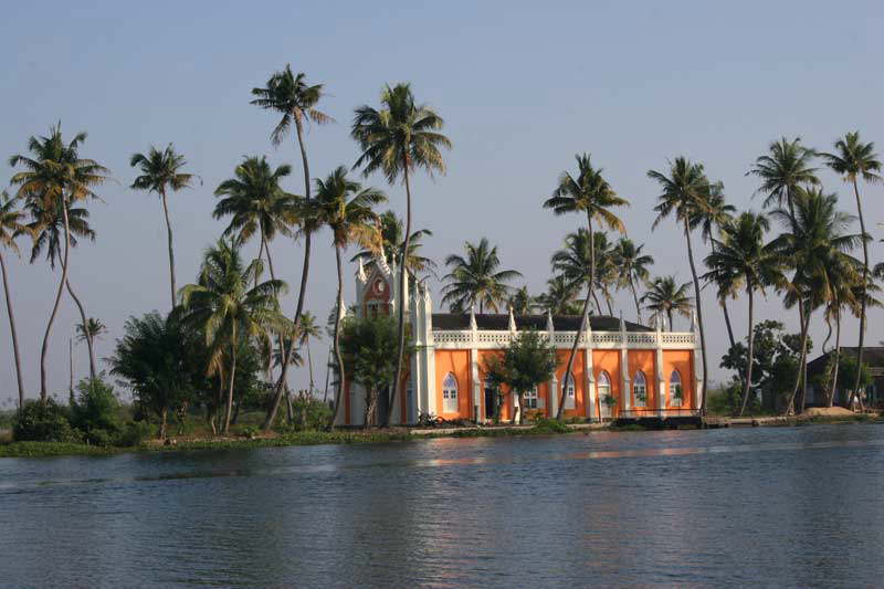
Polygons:
M0 24L0 185L8 156L28 137L62 120L65 134L87 130L83 154L105 164L118 183L90 204L96 242L72 257L73 284L87 312L110 329L98 355L110 355L129 315L168 305L167 257L160 207L127 188L128 157L173 141L204 183L175 194L178 282L191 281L201 251L223 228L211 219L213 189L243 155L266 154L295 171L286 188L301 192L292 143L270 145L275 118L249 105L250 90L292 63L326 84L323 108L337 125L307 137L315 176L351 165L348 128L354 107L377 104L383 83L409 81L418 97L445 118L454 143L449 172L414 182L414 222L434 231L427 253L436 260L465 240L487 236L507 266L538 293L549 256L579 219L554 218L540 202L557 176L589 151L632 207L622 212L629 234L656 259L654 273L690 271L682 235L672 222L651 230L655 186L648 169L686 155L725 182L738 208L760 208L756 181L745 172L770 140L800 135L829 148L861 129L884 151L884 4L880 2L410 2L396 9L372 2L42 2L4 7ZM852 194L822 173L853 212ZM387 187L404 209L401 187ZM884 187L862 187L875 238L884 232ZM333 305L334 256L328 235L311 276L307 306L323 319ZM23 244L24 245L24 244ZM295 283L301 253L273 244L283 277ZM27 250L27 249L25 249ZM699 248L701 252L704 251ZM875 243L873 262L884 251ZM42 332L57 275L44 263L10 264L28 390L38 388ZM352 301L352 278L346 280ZM436 292L439 285L435 285ZM712 293L709 293L712 294ZM285 303L291 313L291 296ZM722 378L724 322L707 296L709 366ZM439 297L436 296L438 301ZM627 317L629 297L618 299ZM743 329L745 302L732 303ZM771 298L759 318L797 325ZM884 338L881 312L867 340ZM67 337L78 318L65 299L51 347L51 390L67 382ZM6 316L2 333L8 333ZM814 322L815 350L824 328ZM852 343L856 326L845 328ZM324 349L314 350L323 365ZM14 393L11 345L0 338L0 399ZM85 349L75 370L87 374ZM319 370L323 374L322 369ZM306 382L298 371L296 386Z

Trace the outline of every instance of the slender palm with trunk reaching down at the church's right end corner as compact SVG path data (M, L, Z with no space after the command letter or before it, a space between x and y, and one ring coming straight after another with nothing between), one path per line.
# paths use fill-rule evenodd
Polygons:
M703 170L702 164L695 164L685 157L677 157L670 164L669 176L655 170L649 170L648 177L655 180L662 192L657 197L654 211L657 218L653 227L656 228L670 214L675 215L675 221L682 223L684 239L687 242L687 261L691 264L691 276L694 280L694 303L697 309L699 324L699 347L703 354L703 399L699 403L702 414L706 412L706 383L709 371L706 360L706 332L703 324L703 305L699 298L699 278L694 263L694 248L691 243L692 223L697 222L698 214L704 210L709 196L709 180Z

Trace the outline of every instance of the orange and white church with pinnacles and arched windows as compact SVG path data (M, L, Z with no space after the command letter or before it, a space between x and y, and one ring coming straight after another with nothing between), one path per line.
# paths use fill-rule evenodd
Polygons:
M356 273L356 313L396 315L398 271L383 256ZM573 338L576 315L516 315L433 313L428 288L406 293L406 318L411 324L415 353L401 407L393 421L415 423L421 413L480 422L494 414L494 392L485 383L485 361L501 355L523 329L546 334L558 350L559 366L551 380L525 395L525 410L555 416L566 388L565 416L591 420L622 414L646 416L691 410L699 404L699 368L694 358L698 337L690 332L663 330L662 320L645 327L604 315L591 315L578 344L573 378L562 382ZM693 322L692 322L693 324ZM555 395L550 395L554 391ZM365 419L365 391L347 381L339 424L359 425ZM507 395L502 419L517 403Z

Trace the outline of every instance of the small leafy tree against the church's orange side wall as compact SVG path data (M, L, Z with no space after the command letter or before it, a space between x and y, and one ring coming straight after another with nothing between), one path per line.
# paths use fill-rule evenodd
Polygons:
M557 366L556 348L535 330L520 332L514 337L502 359L486 360L485 371L492 382L505 385L518 398L513 423L522 422L525 393L549 381ZM555 393L550 391L550 395Z

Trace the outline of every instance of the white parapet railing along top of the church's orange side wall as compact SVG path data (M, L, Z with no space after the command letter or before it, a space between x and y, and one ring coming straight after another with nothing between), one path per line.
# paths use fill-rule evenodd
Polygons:
M433 345L438 349L499 349L513 340L512 332L477 329L438 329L433 330ZM546 336L545 332L540 332ZM587 345L586 333L580 335L580 344ZM554 334L557 348L569 348L573 345L577 332L556 332ZM625 340L624 340L625 337ZM691 332L592 332L592 348L620 348L625 345L630 349L653 349L660 346L664 349L693 349L696 336Z

